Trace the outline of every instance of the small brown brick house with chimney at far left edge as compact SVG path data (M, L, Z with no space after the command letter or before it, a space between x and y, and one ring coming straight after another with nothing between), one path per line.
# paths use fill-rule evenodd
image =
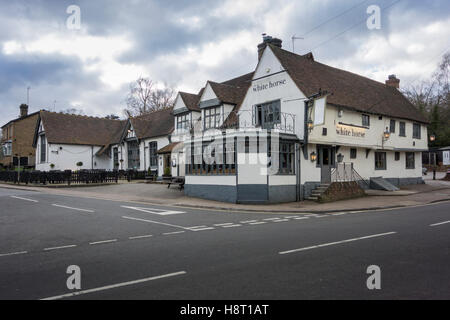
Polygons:
M28 114L28 105L20 105L20 116L2 126L0 166L34 168L33 138L39 111Z

